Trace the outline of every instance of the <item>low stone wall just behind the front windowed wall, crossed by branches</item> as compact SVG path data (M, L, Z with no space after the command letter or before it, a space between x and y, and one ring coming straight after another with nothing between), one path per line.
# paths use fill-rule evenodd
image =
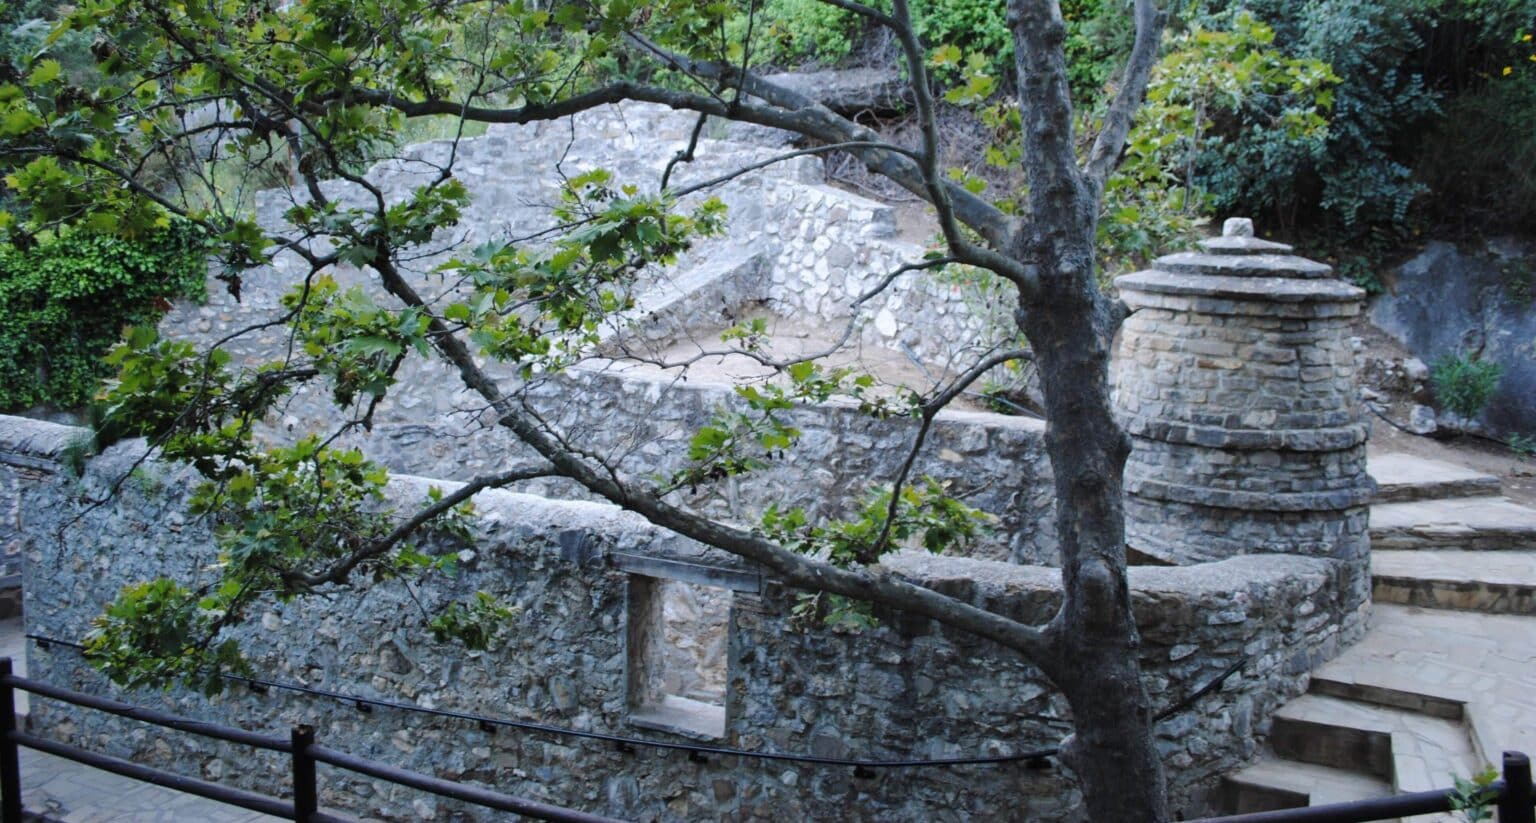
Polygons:
M441 379L453 376L444 370ZM571 442L610 456L621 474L630 478L670 476L684 468L688 438L717 410L746 410L727 384L601 369L574 369L530 385L525 398L545 421L567 431ZM424 415L424 419L433 418ZM888 484L897 474L917 435L911 418L877 419L839 404L800 407L788 419L802 438L783 459L742 478L682 490L679 502L748 525L770 504L803 507L822 517L849 516L871 484ZM352 442L392 470L458 481L538 464L531 450L504 430L455 416L436 421L382 422ZM452 471L442 471L445 467ZM986 534L966 554L1021 564L1057 562L1043 422L943 412L914 465L914 476L923 474L992 514ZM519 490L581 496L568 481L533 481Z

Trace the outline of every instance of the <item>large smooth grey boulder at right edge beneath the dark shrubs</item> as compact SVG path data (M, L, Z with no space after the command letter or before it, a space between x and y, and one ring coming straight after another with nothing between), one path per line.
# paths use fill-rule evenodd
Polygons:
M1536 435L1533 267L1536 246L1528 241L1436 241L1399 266L1370 307L1370 319L1424 362L1453 355L1504 367L1476 421L1493 435Z

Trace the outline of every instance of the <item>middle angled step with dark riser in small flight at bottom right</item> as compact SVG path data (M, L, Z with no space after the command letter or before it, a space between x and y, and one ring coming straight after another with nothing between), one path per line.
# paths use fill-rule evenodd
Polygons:
M1484 766L1458 720L1322 694L1281 706L1270 745L1290 760L1390 780L1396 792L1445 788Z

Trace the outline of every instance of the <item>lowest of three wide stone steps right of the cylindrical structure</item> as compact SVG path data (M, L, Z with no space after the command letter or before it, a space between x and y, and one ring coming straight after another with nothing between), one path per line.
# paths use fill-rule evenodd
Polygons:
M1372 551L1372 599L1536 616L1536 551Z

